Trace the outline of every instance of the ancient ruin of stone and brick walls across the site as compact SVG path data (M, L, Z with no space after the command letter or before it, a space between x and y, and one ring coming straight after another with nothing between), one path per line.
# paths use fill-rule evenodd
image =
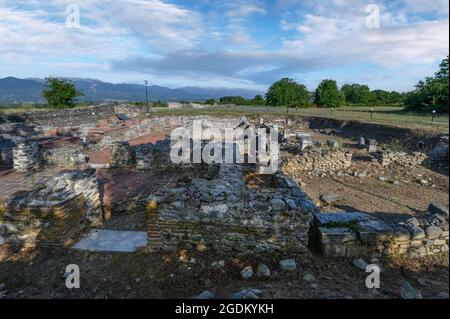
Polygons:
M193 121L221 132L275 129L279 170L261 175L248 161L172 163L170 132L191 129ZM354 147L314 140L311 131L305 132L307 123L285 118L153 116L127 105L39 112L0 123L2 244L70 246L118 216L142 214L148 251L317 250L326 257L352 258L420 258L448 251L448 208L442 205L389 223L375 214L321 212L299 182L305 172L363 178L367 173L358 165L367 163L376 172L393 164L443 167L448 137L429 154L401 153L373 139L360 138ZM248 146L233 147L248 157Z

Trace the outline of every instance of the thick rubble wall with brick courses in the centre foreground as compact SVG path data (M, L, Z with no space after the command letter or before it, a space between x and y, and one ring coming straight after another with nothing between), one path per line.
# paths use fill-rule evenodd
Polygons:
M162 191L147 205L152 249L212 249L241 254L307 251L317 208L291 179L275 188L247 189L239 165L221 165L216 178L194 178Z

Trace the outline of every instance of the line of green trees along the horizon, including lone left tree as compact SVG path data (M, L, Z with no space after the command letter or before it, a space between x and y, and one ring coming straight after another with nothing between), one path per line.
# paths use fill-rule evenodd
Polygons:
M363 84L345 84L338 87L335 80L323 80L314 92L308 91L305 85L290 78L283 78L272 84L265 97L256 95L253 99L241 96L225 96L218 101L210 99L207 105L270 105L287 107L326 107L337 108L348 106L405 106L414 111L446 112L449 110L449 74L447 56L439 71L432 77L420 81L411 92L370 90ZM42 93L48 106L53 108L73 107L77 97L82 93L76 90L70 81L48 78Z

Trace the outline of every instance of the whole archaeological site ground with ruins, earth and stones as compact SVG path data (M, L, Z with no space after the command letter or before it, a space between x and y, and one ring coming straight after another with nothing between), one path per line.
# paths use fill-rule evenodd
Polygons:
M240 164L174 163L170 134L194 121L275 130L278 170L245 143ZM433 127L127 104L0 115L0 298L445 299L448 189Z

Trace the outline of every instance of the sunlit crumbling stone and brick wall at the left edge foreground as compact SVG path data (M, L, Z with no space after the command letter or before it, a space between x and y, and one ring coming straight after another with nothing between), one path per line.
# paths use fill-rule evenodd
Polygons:
M0 213L0 235L17 245L65 245L102 220L95 170L66 171L8 199Z

